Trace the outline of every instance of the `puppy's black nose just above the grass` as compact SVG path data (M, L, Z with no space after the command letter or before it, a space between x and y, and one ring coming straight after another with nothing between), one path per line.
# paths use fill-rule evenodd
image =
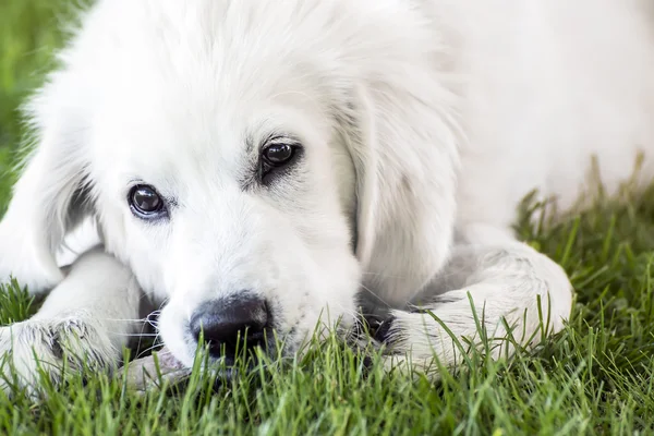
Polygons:
M241 294L203 304L190 327L196 341L204 338L209 344L213 358L223 356L231 363L239 350L265 346L268 317L265 300Z

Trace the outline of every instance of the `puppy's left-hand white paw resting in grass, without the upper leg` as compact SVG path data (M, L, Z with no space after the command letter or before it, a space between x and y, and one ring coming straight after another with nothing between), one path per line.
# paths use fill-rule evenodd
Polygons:
M0 327L0 388L35 392L43 376L58 385L69 374L113 370L119 354L109 335L84 316Z

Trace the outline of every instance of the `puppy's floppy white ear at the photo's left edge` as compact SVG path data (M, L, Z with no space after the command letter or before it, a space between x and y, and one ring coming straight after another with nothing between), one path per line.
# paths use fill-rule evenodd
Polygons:
M27 107L36 147L25 159L0 222L0 283L15 277L32 292L62 279L56 254L65 234L88 215L81 118L47 86Z

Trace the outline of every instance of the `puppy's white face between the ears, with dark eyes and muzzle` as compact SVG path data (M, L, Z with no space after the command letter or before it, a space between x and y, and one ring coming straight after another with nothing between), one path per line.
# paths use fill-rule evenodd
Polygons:
M350 324L359 284L354 167L319 96L220 82L109 104L94 129L105 241L167 300L162 339L184 363L197 323L225 316L293 350L319 318Z

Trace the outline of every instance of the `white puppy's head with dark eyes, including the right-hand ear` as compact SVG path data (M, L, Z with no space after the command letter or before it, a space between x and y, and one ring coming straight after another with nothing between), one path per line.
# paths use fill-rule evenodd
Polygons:
M201 330L292 351L360 289L401 306L455 216L455 98L414 13L100 1L32 105L50 246L94 216L186 364Z

